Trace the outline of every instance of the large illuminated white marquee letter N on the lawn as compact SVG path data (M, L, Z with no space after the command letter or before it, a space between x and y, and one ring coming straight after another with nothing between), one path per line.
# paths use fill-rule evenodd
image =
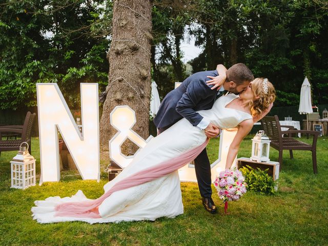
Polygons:
M100 178L98 84L81 83L82 134L57 84L36 84L39 122L40 185L59 181L59 130L83 179Z

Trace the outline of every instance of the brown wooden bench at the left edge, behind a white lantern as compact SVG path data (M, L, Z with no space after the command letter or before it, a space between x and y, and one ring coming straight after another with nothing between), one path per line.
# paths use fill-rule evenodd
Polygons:
M29 144L29 152L31 153L31 132L35 113L27 112L23 126L1 126L0 127L0 156L3 151L19 150L22 142ZM20 133L21 139L8 139L2 140L2 133Z

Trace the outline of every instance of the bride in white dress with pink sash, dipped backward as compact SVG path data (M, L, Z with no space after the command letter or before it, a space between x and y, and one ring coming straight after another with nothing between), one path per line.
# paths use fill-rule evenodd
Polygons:
M267 78L256 78L238 96L217 99L200 115L221 129L238 127L230 146L226 168L235 159L240 142L253 127L254 115L269 108L275 89ZM153 138L115 179L106 183L105 193L88 199L80 190L72 197L49 197L35 201L31 209L39 223L85 221L89 223L155 220L183 213L177 170L193 160L208 144L204 130L182 118Z

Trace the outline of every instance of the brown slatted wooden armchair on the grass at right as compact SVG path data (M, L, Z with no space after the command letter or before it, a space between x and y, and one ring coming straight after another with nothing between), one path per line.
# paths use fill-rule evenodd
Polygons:
M319 132L305 131L305 130L287 130L281 131L281 127L293 128L291 126L280 126L278 115L265 116L261 119L261 128L265 134L270 138L270 146L279 151L279 163L280 168L282 166L282 151L289 150L291 159L294 158L293 150L309 150L312 151L312 165L313 172L318 173L317 169L317 139ZM313 135L312 145L308 145L305 142L296 140L292 137L292 134L303 133ZM288 137L283 137L286 134Z

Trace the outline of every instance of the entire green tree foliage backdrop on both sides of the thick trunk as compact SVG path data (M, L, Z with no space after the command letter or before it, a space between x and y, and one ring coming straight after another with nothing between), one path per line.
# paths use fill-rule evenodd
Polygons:
M0 109L36 105L35 83L58 83L72 108L81 82L108 84L112 1L3 0ZM187 76L181 43L202 48L192 71L245 63L277 89L276 106L298 105L305 76L313 103L328 103L328 11L320 0L154 0L152 78L160 96Z

